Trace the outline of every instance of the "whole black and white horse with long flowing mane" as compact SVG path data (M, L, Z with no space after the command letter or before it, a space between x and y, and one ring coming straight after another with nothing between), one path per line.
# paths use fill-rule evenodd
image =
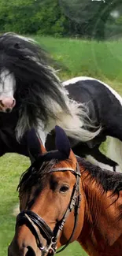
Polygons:
M122 140L120 96L91 78L61 83L49 61L35 41L13 33L0 36L0 155L28 155L26 133L32 127L53 148L53 136L47 134L57 124L76 154L81 148L83 157L117 169L98 147L106 135Z

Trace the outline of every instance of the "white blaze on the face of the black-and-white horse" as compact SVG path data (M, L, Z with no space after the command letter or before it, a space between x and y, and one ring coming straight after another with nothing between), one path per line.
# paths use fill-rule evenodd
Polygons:
M3 69L0 74L0 98L12 97L14 95L16 80L13 73Z

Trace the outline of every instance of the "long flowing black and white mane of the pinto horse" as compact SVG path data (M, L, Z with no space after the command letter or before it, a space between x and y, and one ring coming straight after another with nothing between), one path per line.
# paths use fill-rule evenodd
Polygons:
M83 104L68 98L50 63L51 59L34 40L10 32L0 36L0 72L7 69L16 80L17 138L31 127L50 132L58 124L72 138L93 139L100 129L96 131L87 119ZM90 127L91 132L87 129Z

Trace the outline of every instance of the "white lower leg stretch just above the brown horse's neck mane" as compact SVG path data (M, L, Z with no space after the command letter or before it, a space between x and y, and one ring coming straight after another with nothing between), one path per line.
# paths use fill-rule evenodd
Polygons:
M106 169L106 170L109 170L109 171L112 171L113 172L113 167L110 166L110 165L105 165L103 164L102 162L100 161L97 161L95 158L93 158L91 155L87 155L87 157L85 158L87 161L90 161L91 164L93 165L98 165L100 168L102 169ZM117 169L116 169L117 171Z

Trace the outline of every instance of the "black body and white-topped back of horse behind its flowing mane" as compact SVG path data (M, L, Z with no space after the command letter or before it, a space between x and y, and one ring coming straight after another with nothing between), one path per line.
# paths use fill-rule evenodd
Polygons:
M113 88L91 77L76 77L63 83L68 97L85 103L89 117L102 124L108 135L122 139L122 98Z

